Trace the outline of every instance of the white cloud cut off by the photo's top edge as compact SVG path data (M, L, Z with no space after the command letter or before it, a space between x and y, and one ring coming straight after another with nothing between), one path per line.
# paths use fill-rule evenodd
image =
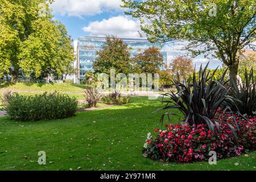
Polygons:
M51 8L53 12L68 15L96 15L104 11L120 11L121 0L55 0Z

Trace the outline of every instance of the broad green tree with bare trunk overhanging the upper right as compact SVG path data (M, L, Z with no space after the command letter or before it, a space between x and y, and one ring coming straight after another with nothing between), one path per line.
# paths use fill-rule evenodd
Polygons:
M122 0L126 12L141 20L151 42L188 41L193 56L204 53L222 60L236 80L239 52L255 49L255 0Z

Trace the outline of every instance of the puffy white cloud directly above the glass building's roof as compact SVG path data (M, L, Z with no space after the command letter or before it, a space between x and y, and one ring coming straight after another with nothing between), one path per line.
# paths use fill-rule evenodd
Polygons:
M90 22L88 27L84 27L83 30L89 32L91 36L115 35L123 38L140 38L138 31L142 33L139 21L127 16L114 16Z

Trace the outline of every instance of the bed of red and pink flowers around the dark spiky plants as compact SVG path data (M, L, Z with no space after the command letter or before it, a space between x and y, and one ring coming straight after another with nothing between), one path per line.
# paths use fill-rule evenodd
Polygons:
M256 148L256 116L243 119L238 115L216 114L220 122L220 133L208 129L206 124L189 126L167 125L166 130L155 130L156 138L148 134L143 154L158 161L188 163L209 159L215 151L217 159L241 155ZM235 124L235 120L238 127ZM229 125L236 129L237 140ZM239 128L239 130L238 130Z

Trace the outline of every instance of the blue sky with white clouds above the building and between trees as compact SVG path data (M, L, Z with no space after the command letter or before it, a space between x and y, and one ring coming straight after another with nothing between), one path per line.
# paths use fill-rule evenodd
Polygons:
M55 0L51 5L56 20L65 24L69 35L76 40L79 36L115 35L124 38L140 38L139 21L124 14L120 7L121 0ZM146 38L146 36L145 36ZM180 51L182 44L164 46L168 61L175 56L185 55ZM208 59L203 55L197 56L193 62L207 64ZM210 60L210 68L221 65L221 61Z

